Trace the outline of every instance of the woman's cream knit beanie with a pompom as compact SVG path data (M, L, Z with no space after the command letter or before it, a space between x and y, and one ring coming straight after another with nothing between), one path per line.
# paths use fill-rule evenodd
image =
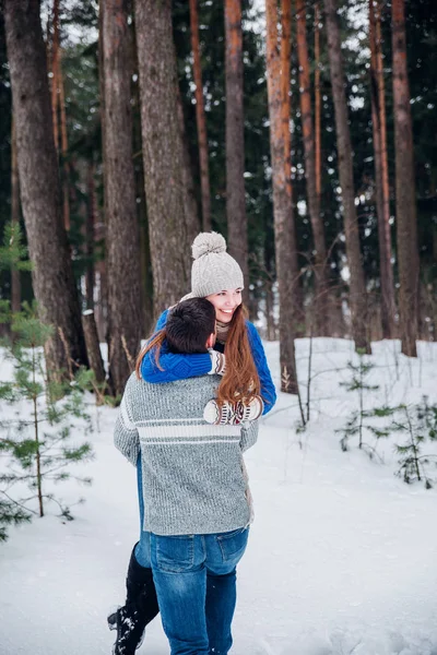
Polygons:
M243 271L226 252L226 241L217 233L200 233L192 242L191 293L205 298L225 289L245 286Z

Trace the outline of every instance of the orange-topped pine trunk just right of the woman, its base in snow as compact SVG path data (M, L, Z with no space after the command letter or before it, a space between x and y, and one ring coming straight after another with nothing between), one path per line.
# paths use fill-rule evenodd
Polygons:
M290 9L284 2L284 13ZM281 81L281 59L277 45L276 0L265 0L267 19L267 81L270 117L270 150L273 169L273 214L276 277L280 296L280 365L281 389L287 393L297 392L294 335L296 330L296 308L298 271L296 266L296 235L293 216L291 184L285 177L285 144L282 104L284 84ZM288 95L288 94L287 94Z

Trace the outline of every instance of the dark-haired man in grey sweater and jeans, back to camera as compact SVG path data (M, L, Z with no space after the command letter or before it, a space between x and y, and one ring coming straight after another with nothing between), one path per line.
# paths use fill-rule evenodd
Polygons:
M174 353L208 353L215 341L214 307L203 298L179 302L146 350L158 354L164 341ZM131 564L152 568L172 655L225 655L232 645L236 565L250 522L243 452L256 442L258 426L206 424L204 408L220 380L150 384L132 374L116 424L116 446L142 464L144 522ZM153 618L154 603L149 591L140 611Z

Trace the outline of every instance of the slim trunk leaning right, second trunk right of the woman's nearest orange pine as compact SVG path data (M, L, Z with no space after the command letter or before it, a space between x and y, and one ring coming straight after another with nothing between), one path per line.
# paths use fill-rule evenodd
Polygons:
M355 348L370 353L367 334L367 297L359 249L358 218L355 207L351 133L347 120L343 58L335 0L323 0L327 17L328 56L334 100L339 177L343 203L346 257L350 270L350 308Z

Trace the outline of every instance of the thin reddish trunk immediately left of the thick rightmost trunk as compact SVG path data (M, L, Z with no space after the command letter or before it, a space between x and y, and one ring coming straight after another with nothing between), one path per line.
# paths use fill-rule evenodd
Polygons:
M390 196L387 160L386 100L380 41L379 0L369 0L370 97L378 214L382 338L394 337L394 285L391 266Z

